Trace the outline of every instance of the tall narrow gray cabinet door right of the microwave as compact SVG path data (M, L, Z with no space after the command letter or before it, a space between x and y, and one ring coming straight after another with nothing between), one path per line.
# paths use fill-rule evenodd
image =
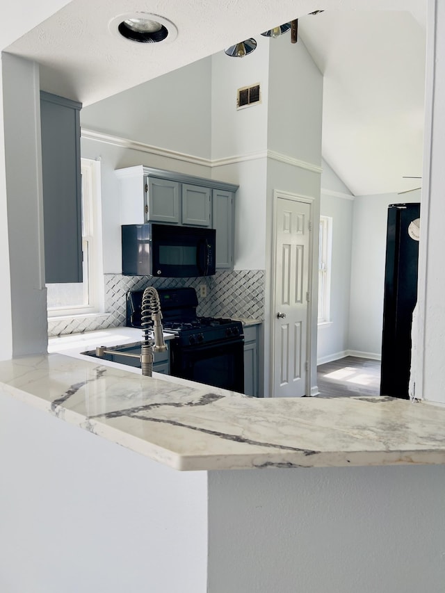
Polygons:
M213 190L213 229L216 229L216 267L234 265L234 195L232 192Z

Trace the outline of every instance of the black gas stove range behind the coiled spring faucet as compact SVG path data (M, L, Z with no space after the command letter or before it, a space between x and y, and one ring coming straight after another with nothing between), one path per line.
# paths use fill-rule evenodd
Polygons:
M196 314L195 289L158 289L162 325L175 334L169 341L170 373L243 393L243 324L229 318ZM143 291L127 293L127 326L142 328Z

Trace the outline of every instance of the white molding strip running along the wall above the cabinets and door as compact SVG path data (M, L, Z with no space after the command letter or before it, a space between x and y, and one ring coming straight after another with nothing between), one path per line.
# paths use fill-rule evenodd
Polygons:
M243 163L245 161L257 161L259 159L273 159L274 161L280 161L281 163L286 163L286 165L292 165L293 167L298 167L314 173L321 174L322 172L322 168L318 165L294 159L292 156L276 152L275 150L248 152L241 155L227 156L224 159L212 160L204 159L201 156L193 156L192 154L186 154L184 152L159 148L143 142L136 142L136 140L129 140L129 138L121 138L120 136L113 136L112 134L86 128L81 128L81 138L84 140L95 140L96 142L111 144L120 148L138 150L139 152L146 152L147 154L155 154L156 156L163 156L168 159L176 159L177 161L192 163L193 165L203 165L204 167L209 168L234 165L235 163Z

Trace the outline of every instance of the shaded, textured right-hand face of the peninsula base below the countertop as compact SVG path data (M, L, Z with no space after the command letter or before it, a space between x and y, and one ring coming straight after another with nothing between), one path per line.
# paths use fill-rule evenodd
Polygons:
M444 488L443 466L209 472L209 592L442 593Z

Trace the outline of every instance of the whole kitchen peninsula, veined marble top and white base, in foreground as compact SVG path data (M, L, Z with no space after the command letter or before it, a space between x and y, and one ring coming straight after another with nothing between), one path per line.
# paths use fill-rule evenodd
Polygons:
M86 358L0 363L2 590L414 593L428 564L439 592L444 409Z

